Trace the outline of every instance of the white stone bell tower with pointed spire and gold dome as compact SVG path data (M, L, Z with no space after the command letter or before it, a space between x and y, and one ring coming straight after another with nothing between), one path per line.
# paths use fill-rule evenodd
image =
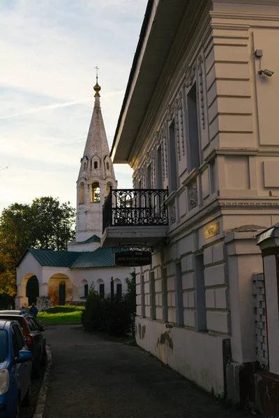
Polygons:
M103 203L110 186L117 187L114 168L110 159L105 125L100 109L100 86L97 82L93 115L80 160L80 173L77 178L77 225L75 244L89 240L93 235L99 238L103 229ZM87 250L88 251L88 250Z

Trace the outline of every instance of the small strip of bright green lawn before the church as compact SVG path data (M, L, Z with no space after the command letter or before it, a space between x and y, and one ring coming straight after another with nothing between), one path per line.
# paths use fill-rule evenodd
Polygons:
M84 307L52 307L38 313L38 323L43 325L59 325L80 323Z

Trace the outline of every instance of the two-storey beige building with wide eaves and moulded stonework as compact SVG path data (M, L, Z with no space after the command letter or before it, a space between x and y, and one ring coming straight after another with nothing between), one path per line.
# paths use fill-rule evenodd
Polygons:
M262 350L255 235L279 221L278 44L279 0L149 1L111 152L135 190L168 189L167 226L111 222L101 240L153 247L137 343L236 401Z

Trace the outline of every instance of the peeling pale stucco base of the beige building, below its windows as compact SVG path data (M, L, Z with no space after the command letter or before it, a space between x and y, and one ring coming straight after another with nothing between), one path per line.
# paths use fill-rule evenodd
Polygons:
M163 363L211 392L224 392L223 339L207 333L167 328L165 324L136 318L136 339L140 347Z

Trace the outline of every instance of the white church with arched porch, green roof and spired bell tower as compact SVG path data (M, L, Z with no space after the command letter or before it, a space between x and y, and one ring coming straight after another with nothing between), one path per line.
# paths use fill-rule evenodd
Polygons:
M38 309L82 304L91 286L102 296L126 291L129 268L115 265L112 248L100 248L103 203L117 182L100 109L98 76L94 91L93 115L77 178L75 240L68 251L27 249L17 263L17 307L32 302Z

